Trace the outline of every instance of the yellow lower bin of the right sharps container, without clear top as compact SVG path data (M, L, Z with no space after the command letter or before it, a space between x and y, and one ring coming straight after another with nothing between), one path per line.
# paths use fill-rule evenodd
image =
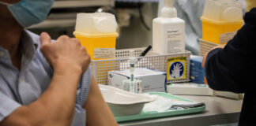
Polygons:
M201 17L201 21L202 39L216 44L228 43L243 26L243 20L218 21Z

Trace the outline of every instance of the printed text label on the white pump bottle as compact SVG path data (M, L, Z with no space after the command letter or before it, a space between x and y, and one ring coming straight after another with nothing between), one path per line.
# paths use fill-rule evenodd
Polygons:
M168 54L174 54L183 51L182 33L180 30L167 31Z

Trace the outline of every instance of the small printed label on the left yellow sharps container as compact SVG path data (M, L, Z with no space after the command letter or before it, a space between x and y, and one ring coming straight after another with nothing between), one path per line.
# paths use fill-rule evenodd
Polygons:
M115 58L115 48L94 48L94 58Z

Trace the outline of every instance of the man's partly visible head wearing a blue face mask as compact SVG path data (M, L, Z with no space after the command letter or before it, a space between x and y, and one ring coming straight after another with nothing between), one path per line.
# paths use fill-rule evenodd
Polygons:
M0 19L11 20L14 17L26 28L43 21L53 2L54 0L0 0Z

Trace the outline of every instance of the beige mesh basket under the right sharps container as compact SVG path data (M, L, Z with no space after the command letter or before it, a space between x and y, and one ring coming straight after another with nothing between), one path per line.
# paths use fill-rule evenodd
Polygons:
M213 47L218 46L218 44L211 43L203 39L199 39L199 46L200 46L200 56L204 56L206 53L212 50Z

